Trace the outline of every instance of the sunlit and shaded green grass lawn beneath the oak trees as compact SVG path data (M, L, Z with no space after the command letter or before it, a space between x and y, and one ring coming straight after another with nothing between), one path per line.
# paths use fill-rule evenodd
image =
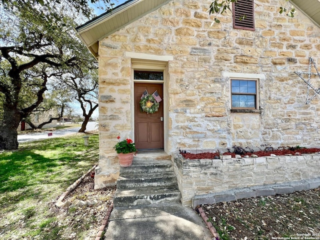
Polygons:
M50 205L98 161L98 134L83 142L74 135L0 152L0 239L57 239L65 226L50 225Z

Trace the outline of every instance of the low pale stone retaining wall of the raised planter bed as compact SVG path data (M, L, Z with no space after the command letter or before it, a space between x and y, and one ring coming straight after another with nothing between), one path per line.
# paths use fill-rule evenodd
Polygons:
M192 160L175 154L173 159L183 205L191 205L195 195L320 177L320 154Z

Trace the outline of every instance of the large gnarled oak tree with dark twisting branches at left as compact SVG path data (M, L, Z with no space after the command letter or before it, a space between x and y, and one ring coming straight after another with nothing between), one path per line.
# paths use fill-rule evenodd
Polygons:
M72 4L63 5L58 0L1 1L0 149L18 147L18 124L43 101L48 82L59 81L75 69L80 72L94 61L75 35L78 14L71 8L80 4L77 10L89 16L87 2L75 0Z

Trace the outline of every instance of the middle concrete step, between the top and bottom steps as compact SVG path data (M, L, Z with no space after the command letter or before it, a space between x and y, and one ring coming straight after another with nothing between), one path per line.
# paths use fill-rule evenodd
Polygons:
M146 186L172 186L176 185L176 176L171 172L120 174L116 181L118 189L134 189Z

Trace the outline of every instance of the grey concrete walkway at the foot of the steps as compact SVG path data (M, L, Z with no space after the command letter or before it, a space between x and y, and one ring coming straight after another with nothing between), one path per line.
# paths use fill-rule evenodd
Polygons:
M178 203L115 207L104 234L108 240L211 240L201 216Z

